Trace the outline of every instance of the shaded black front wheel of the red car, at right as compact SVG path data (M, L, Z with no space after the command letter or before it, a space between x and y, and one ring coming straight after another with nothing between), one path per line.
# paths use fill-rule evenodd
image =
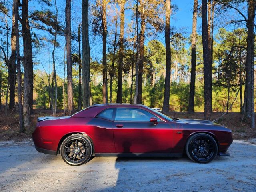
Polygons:
M187 156L194 162L208 163L218 154L218 145L212 136L197 133L188 138L185 150Z

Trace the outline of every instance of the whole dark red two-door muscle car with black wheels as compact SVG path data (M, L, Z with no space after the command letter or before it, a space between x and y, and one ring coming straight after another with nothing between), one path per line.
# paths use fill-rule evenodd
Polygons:
M208 163L228 156L231 130L206 120L170 118L135 104L100 104L68 117L38 118L36 150L70 165L95 156L187 156Z

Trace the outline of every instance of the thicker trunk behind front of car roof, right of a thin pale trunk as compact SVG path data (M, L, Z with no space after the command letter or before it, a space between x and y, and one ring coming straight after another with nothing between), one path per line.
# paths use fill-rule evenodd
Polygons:
M141 11L141 24L140 24L140 53L138 60L138 98L137 104L142 104L142 82L143 82L143 63L144 63L144 39L145 39L145 8L144 0L141 1L142 11Z

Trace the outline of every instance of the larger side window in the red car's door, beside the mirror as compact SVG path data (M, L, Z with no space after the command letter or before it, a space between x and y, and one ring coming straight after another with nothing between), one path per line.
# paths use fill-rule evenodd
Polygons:
M147 112L142 109L132 109L132 108L117 108L116 109L116 121L143 121L149 122L151 117L157 118L158 121L160 120L157 116L154 116L150 112Z

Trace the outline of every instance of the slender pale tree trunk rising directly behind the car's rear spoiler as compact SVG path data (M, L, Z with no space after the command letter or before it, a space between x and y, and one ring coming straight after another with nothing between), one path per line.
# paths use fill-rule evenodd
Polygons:
M54 32L54 45L53 45L53 51L52 51L52 63L53 63L53 70L54 70L54 83L55 83L55 102L54 102L54 116L57 114L57 94L58 94L58 89L57 89L57 78L56 78L56 67L55 67L55 48L56 48L56 40L57 40L57 24L58 24L58 9L57 9L57 4L56 0L54 1L55 4L55 9L56 9L56 17L55 17L55 32Z

